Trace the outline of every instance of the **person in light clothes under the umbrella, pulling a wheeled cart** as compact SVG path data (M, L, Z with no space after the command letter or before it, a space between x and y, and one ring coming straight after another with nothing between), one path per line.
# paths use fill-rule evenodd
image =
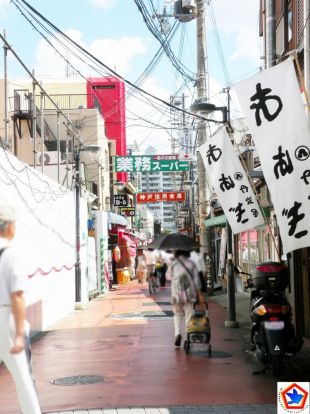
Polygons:
M205 303L201 293L198 269L189 258L190 252L176 250L174 260L168 267L166 278L171 280L171 303L174 313L175 346L182 342L182 331L187 334L187 325L193 313L193 305L197 300Z

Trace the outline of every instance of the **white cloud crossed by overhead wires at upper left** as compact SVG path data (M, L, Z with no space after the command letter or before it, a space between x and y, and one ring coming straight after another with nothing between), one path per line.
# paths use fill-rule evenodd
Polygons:
M131 62L134 57L146 51L143 40L136 37L124 36L120 39L97 39L87 45L83 42L83 34L79 30L69 29L65 33L104 64L117 71L121 76L127 76L131 70ZM55 43L51 38L49 40L55 45L59 53L65 56L71 65L77 68L84 76L100 76L94 69L68 53L65 47ZM66 41L63 39L62 43L66 45ZM88 61L88 58L85 56L83 59ZM66 74L67 65L64 60L43 39L38 44L36 61L35 71L40 76L58 77L65 76ZM70 67L69 72L73 72L73 69ZM101 72L105 73L105 69L101 68Z

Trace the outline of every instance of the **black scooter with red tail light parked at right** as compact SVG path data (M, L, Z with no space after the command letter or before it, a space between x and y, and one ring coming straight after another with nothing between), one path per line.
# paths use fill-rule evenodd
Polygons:
M297 338L292 324L292 309L285 289L289 284L289 271L278 262L259 263L255 274L249 276L251 341L256 357L265 368L279 377L284 373L285 360L300 351L302 338Z

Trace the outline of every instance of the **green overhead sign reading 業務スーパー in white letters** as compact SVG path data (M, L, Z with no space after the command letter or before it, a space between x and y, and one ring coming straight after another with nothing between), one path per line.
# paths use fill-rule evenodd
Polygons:
M114 157L115 172L187 171L188 169L188 161L179 160L176 154Z

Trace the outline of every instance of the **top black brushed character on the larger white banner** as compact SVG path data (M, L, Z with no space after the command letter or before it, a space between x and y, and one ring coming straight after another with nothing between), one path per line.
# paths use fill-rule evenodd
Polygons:
M254 103L250 106L250 109L255 109L255 120L256 125L260 126L262 124L262 120L260 117L260 110L263 112L264 117L267 119L267 121L273 121L280 113L280 111L283 108L282 101L279 96L276 95L268 95L268 93L271 92L270 88L262 89L262 86L260 83L256 84L256 93L251 96L251 101L256 101L258 99L258 103ZM271 114L268 110L268 107L266 105L266 101L268 99L273 99L278 102L278 108L277 110Z

